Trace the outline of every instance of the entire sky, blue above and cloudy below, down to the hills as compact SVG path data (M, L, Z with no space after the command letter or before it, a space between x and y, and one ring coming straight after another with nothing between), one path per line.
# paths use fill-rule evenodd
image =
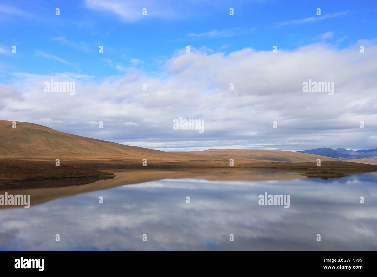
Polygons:
M376 1L2 0L0 119L165 151L377 148L376 15Z

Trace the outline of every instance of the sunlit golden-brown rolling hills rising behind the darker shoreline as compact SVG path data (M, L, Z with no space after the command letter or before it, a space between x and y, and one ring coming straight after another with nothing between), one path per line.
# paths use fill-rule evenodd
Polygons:
M55 159L75 164L162 167L250 167L276 162L339 161L307 153L274 150L211 149L195 152L164 152L59 132L42 125L0 120L0 159Z

